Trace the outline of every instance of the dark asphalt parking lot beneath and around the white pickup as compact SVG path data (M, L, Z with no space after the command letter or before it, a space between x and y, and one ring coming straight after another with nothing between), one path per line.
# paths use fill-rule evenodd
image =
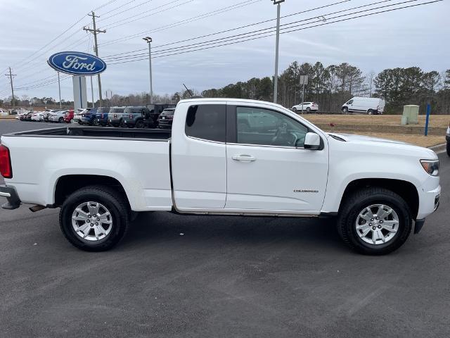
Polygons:
M0 121L0 134L41 126ZM0 337L449 337L439 158L441 208L380 257L349 251L333 220L170 213L141 214L116 249L87 253L58 210L0 209Z

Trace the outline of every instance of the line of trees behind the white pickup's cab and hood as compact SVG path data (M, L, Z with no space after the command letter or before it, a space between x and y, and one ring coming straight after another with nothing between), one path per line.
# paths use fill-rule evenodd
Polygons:
M278 77L279 104L290 108L302 101L300 75L308 75L304 101L314 101L321 111L340 111L353 96L380 97L386 100L385 113L401 113L406 104L417 104L425 113L427 103L433 113L450 114L450 69L443 73L425 72L418 67L385 69L364 74L349 63L291 63ZM247 82L207 89L204 97L229 97L273 101L274 82L271 77L254 77Z

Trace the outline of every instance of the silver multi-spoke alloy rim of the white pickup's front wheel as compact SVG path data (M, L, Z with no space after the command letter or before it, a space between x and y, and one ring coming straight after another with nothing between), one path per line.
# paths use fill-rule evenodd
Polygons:
M385 244L399 230L399 216L390 206L373 204L364 208L356 218L356 233L369 244Z

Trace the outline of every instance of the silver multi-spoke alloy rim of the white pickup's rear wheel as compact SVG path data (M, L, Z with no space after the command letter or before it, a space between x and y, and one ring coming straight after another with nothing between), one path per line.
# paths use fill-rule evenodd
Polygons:
M72 213L72 227L84 241L99 241L113 228L113 216L103 204L84 202Z

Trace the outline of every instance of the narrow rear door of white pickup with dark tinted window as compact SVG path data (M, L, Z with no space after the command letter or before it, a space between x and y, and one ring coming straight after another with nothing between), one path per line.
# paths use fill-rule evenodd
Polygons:
M184 109L187 110L186 115L178 113ZM179 105L174 114L172 139L176 208L180 211L186 208L224 208L226 102L186 102Z

